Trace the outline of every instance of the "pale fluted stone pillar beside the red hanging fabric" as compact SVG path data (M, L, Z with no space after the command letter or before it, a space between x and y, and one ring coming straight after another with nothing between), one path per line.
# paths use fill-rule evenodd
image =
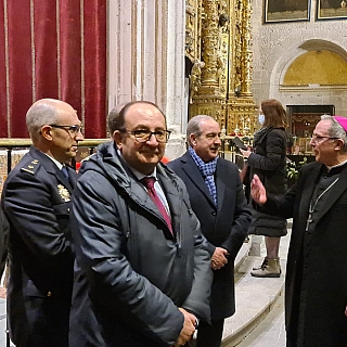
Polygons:
M172 130L169 157L184 151L183 0L108 2L108 110L132 100L158 104Z

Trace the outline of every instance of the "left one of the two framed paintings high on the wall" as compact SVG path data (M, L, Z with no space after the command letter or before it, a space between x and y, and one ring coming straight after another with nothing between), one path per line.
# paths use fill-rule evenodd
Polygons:
M265 0L264 22L309 21L310 5L310 0Z

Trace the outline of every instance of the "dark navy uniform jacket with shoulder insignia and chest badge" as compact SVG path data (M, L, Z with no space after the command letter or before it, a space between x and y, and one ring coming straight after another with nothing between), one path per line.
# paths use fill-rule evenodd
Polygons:
M2 207L10 223L8 318L20 346L67 346L74 252L69 181L46 154L30 147L10 172Z

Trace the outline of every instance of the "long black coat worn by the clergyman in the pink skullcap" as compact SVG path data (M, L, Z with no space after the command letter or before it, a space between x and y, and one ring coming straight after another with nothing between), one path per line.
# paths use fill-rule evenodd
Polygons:
M296 185L282 197L269 194L262 207L283 218L293 217L285 279L287 346L296 346L298 337L305 339L305 346L338 347L347 342L347 165L314 214L314 230L306 232L322 169L320 163L303 166ZM304 297L303 282L307 288ZM304 321L300 333L299 321Z

